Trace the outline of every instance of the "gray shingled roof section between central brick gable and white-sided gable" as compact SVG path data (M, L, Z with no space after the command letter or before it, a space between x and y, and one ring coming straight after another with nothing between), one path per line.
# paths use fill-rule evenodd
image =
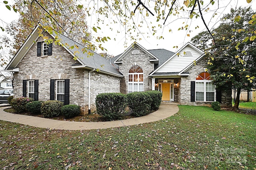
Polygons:
M159 59L158 64L155 65L155 69L157 69L165 61L172 57L172 55L174 55L174 52L168 51L166 49L150 49L148 51Z

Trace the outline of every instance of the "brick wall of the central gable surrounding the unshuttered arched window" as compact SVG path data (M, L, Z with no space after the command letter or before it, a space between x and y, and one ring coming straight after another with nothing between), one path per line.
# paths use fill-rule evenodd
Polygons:
M139 54L132 54L134 49L140 51ZM154 70L154 62L150 62L151 58L140 48L134 45L123 58L122 64L119 66L119 71L124 75L125 81L121 81L120 90L122 93L128 93L128 72L132 66L138 65L142 68L144 74L144 91L152 90L152 79L148 78L148 75Z

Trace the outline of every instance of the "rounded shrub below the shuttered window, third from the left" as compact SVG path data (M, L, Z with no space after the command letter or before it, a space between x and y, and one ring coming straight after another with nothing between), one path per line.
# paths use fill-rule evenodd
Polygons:
M61 114L63 103L61 101L44 101L41 105L41 114L43 117L54 117Z

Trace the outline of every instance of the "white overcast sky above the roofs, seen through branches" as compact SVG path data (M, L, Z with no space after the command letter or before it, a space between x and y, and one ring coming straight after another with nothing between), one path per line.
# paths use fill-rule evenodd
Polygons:
M207 0L205 0L206 2ZM251 6L252 9L256 10L256 0L252 0L252 2L250 4L248 4L246 2L246 0L231 0L231 3L227 5L227 2L230 2L230 0L219 0L220 1L220 6L219 6L219 10L217 11L218 15L216 15L212 20L210 20L211 16L212 16L212 12L209 14L205 14L205 20L206 23L208 24L209 28L213 28L214 26L218 26L218 21L220 20L220 18L222 17L222 14L227 14L230 12L230 8L235 8L236 7L236 2L238 2L238 6L243 6L243 7L248 7ZM82 4L84 2L84 6L85 6L85 1L81 0L80 1ZM91 1L92 2L92 1ZM135 1L134 1L135 2ZM182 0L183 2L183 0ZM224 4L222 4L222 2ZM13 4L12 1L8 1L8 4ZM211 9L211 6L209 6ZM152 12L154 13L154 10L151 9ZM136 14L138 14L138 11L136 11ZM12 20L18 19L18 14L16 14L13 10L8 10L5 7L5 4L0 1L0 26L3 26L5 23L4 22L8 22L10 23ZM155 20L154 17L151 18L152 20ZM172 20L174 18L168 18L168 20ZM93 17L88 17L88 26L90 29L90 32L92 32L92 35L97 37L97 36L109 36L112 40L109 40L106 43L103 43L102 45L108 49L108 51L104 51L107 52L110 55L118 55L122 52L124 52L124 50L127 48L125 47L125 43L127 44L127 46L129 47L134 40L130 40L129 36L126 36L125 38L125 33L124 33L124 28L120 25L112 25L112 28L114 28L113 31L110 31L109 27L106 26L107 24L109 24L109 21L106 20L104 22L104 24L102 25L96 25L96 23L94 22L94 18ZM150 21L152 21L150 20ZM4 22L3 22L4 21ZM147 20L147 22L150 22L149 20ZM188 25L190 26L190 30L192 30L192 32L187 32L184 30L178 31L178 28L181 26L185 26L182 22L184 20L179 19L176 20L175 22L172 22L171 24L167 24L164 28L159 29L158 32L155 34L155 36L152 36L152 33L150 35L150 32L148 31L147 28L143 28L142 32L146 33L149 32L149 34L144 34L141 35L140 38L142 38L142 40L137 41L140 45L142 45L144 48L146 49L167 49L170 51L176 51L176 48L174 49L173 46L178 46L179 48L182 47L182 45L184 45L185 43L189 42L191 38L193 38L194 36L196 36L196 34L198 34L199 32L201 32L202 30L205 30L205 27L203 25L203 22L200 18L196 19L196 20L192 20L192 22L189 20L188 21ZM159 24L163 24L164 21L160 21ZM138 25L138 23L137 23ZM95 33L92 30L93 26L100 26L101 30L98 33ZM194 29L196 26L199 26L198 29ZM172 30L172 32L169 32L169 29ZM116 32L120 31L119 34L117 34ZM190 37L186 36L187 34L190 34ZM2 30L0 30L0 36L2 35ZM157 36L163 36L164 39L158 40L156 37ZM114 40L115 39L115 40ZM126 40L127 39L127 40ZM98 53L101 51L98 51Z

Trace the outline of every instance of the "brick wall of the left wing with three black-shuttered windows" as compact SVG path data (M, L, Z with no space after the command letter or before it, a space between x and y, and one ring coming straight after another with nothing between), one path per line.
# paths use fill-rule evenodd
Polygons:
M46 36L50 36L47 33ZM42 38L38 38L42 42ZM52 55L37 56L37 44L32 45L28 53L18 64L19 72L14 73L14 97L22 97L22 81L38 79L38 100L50 100L50 79L70 79L70 104L79 105L82 114L88 113L88 70L72 69L78 63L73 56L59 45L52 45ZM113 82L110 85L110 82ZM55 83L56 87L56 83ZM95 110L95 97L98 93L119 92L118 77L101 73L91 73L91 107ZM55 88L56 95L56 88ZM28 83L27 83L28 96Z

